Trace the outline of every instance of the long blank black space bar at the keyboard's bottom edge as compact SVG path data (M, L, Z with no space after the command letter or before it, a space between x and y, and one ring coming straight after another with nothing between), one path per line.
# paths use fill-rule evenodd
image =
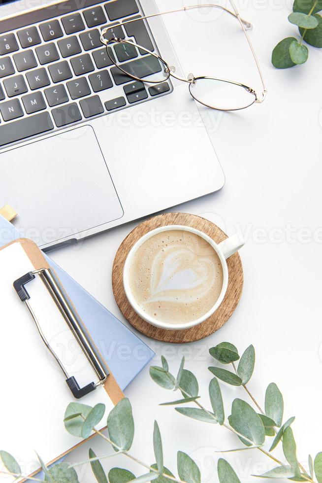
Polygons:
M54 129L48 112L41 112L34 116L25 117L18 121L0 126L0 146L9 142L21 141L36 134L45 133Z

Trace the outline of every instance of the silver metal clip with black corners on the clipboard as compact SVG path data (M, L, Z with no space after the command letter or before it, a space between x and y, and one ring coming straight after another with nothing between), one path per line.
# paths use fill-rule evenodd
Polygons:
M30 295L25 288L25 285L28 282L32 281L36 276L40 276L41 280L45 284L56 306L58 307L59 311L63 315L64 320L66 321L69 329L73 333L75 339L77 340L78 344L80 345L84 354L86 355L89 363L91 364L93 370L95 371L98 378L98 381L96 383L90 382L86 386L80 387L74 376L69 377L64 367L64 364L62 363L58 355L55 353L54 349L51 347L44 333L42 332L42 329L37 320L37 317L29 303ZM55 278L53 272L49 268L34 270L15 280L13 282L13 286L17 294L19 295L20 300L22 302L25 302L29 312L31 313L41 339L43 340L44 344L51 352L53 357L56 359L61 370L63 371L66 377L66 382L73 396L76 399L80 399L81 397L85 396L89 392L94 391L94 389L96 389L97 386L99 386L100 384L103 384L108 376L108 372L106 371L103 364L101 363L95 347L86 336L76 312L72 308L69 301L66 299L64 292L62 290L62 287L60 283L57 281L57 279Z

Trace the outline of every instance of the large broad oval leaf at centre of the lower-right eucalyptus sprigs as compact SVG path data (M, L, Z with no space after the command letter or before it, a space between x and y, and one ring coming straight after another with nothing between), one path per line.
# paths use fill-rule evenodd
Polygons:
M265 441L264 425L254 409L242 399L234 399L231 406L229 424L238 433L245 436L255 445L262 445ZM240 438L241 439L241 438ZM246 446L250 443L241 439Z

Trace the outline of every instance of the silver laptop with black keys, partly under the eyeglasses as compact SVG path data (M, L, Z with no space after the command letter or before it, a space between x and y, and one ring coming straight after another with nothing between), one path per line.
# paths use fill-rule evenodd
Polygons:
M187 84L120 75L100 42L112 26L181 72L162 17L122 25L158 9L162 0L0 4L0 207L43 249L224 185ZM144 62L135 47L111 48L134 72Z

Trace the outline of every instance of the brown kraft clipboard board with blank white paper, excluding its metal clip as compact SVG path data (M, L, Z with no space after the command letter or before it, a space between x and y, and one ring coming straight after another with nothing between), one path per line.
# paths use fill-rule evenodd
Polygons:
M73 398L63 372L13 287L14 280L26 273L48 268L42 252L31 240L19 239L0 249L0 449L17 459L26 476L39 469L35 451L46 464L51 464L83 443L64 428L64 412L70 402L89 406L104 403L102 429L106 415L124 397L104 363L109 373L105 383L81 399ZM32 311L68 373L75 375L82 386L94 380L92 367L40 278L35 277L28 284L28 293ZM88 333L87 336L90 339ZM14 479L0 474L2 481Z

